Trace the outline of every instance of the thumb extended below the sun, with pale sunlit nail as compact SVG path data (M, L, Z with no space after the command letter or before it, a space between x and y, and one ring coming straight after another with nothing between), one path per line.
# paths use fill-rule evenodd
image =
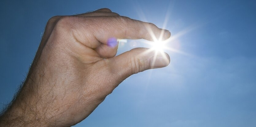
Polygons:
M167 53L149 48L134 48L113 58L109 64L114 69L117 82L122 82L127 77L147 69L166 67L170 63Z

